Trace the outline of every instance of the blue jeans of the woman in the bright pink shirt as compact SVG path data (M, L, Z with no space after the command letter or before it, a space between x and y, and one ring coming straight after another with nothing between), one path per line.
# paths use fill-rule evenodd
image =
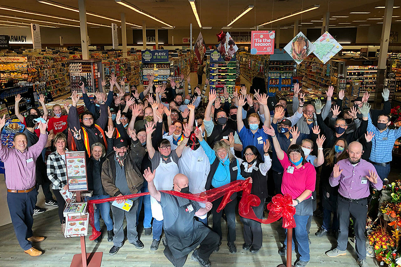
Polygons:
M309 215L294 215L294 220L296 227L293 228L295 235L292 235L292 250L295 249L294 239L298 243L298 252L300 253L301 261L309 261L309 241L308 241L308 231L306 230L306 224L308 223ZM287 229L286 229L287 233ZM284 240L284 245L287 247L287 235L286 240Z

